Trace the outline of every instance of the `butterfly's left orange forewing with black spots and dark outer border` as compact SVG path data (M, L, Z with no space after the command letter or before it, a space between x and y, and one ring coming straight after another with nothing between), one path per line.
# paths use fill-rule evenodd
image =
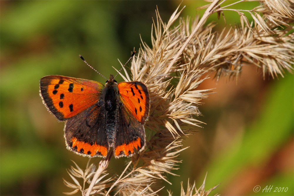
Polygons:
M91 80L44 76L40 80L40 95L56 118L66 120L95 104L103 87Z

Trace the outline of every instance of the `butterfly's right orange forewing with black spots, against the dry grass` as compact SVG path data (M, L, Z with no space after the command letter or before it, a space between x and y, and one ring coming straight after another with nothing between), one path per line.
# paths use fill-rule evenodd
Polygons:
M120 82L117 87L121 102L141 124L144 124L150 108L147 87L138 81Z

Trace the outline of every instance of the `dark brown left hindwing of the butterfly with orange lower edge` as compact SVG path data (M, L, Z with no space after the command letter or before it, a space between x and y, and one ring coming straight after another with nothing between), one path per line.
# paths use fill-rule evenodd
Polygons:
M99 102L66 121L66 145L77 154L106 157L109 150L105 110Z

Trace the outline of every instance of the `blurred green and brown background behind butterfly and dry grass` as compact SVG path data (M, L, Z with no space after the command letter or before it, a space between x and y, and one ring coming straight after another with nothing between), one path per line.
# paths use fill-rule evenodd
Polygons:
M230 1L232 3L233 1ZM104 76L115 73L142 40L151 46L152 18L158 6L163 21L181 1L0 1L1 138L0 195L62 195L71 190L66 168L74 160L85 168L88 158L65 148L64 123L58 123L39 97L39 80L64 75L105 83L86 66L81 54ZM183 1L181 16L195 16L204 1ZM241 4L252 9L256 2ZM238 14L225 12L227 24L239 22ZM209 21L223 28L216 14ZM117 81L122 81L118 76ZM293 75L273 80L255 67L244 67L235 80L207 79L201 89L218 92L203 100L199 120L207 123L184 141L190 146L179 156L179 176L168 175L169 185L160 195L180 194L188 178L206 189L220 186L212 195L294 195ZM100 159L93 159L98 163ZM120 174L126 158L113 159L109 172ZM261 189L273 185L271 192ZM288 187L287 192L274 192Z

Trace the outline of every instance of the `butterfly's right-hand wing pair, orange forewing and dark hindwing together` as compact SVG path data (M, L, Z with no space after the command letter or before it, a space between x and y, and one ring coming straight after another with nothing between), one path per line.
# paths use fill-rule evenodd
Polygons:
M144 123L149 114L149 93L141 82L118 83L118 126L114 143L114 155L131 156L135 149L145 146Z

